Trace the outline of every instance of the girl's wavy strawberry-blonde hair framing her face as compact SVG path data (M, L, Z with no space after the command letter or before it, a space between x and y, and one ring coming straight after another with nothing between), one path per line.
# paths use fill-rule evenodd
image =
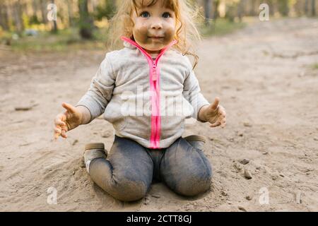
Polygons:
M201 35L196 27L196 19L202 18L199 7L191 0L122 0L117 13L110 21L109 37L107 47L109 50L122 47L120 37L125 36L134 40L134 21L132 14L137 8L153 6L157 1L163 1L163 6L170 8L176 16L176 33L174 39L177 40L173 49L183 55L194 57L194 66L199 61L199 57L194 53L195 42L201 40ZM198 20L199 21L199 20Z

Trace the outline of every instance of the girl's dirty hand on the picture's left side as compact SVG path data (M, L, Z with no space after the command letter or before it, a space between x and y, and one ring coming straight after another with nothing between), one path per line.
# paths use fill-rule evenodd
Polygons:
M66 112L58 114L54 119L54 140L57 140L59 136L67 138L67 131L81 125L82 114L76 107L66 103L62 103L62 107L66 109Z

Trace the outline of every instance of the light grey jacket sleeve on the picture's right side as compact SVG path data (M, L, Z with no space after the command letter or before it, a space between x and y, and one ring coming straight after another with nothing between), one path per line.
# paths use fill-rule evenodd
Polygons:
M192 70L192 65L187 58L188 61L188 73L187 77L184 80L184 86L183 86L183 95L184 98L189 101L189 103L192 105L194 108L194 112L192 114L192 117L196 119L197 121L201 121L198 117L199 110L201 107L204 105L210 105L208 100L202 95L199 81L196 78L196 75L194 71ZM206 121L201 121L201 122L206 122Z

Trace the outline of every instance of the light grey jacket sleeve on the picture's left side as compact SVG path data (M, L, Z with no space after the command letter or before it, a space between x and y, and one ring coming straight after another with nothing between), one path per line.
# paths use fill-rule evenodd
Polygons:
M106 54L105 59L91 80L90 88L76 104L76 106L83 106L89 110L90 121L105 112L105 108L112 97L115 80L112 65Z

